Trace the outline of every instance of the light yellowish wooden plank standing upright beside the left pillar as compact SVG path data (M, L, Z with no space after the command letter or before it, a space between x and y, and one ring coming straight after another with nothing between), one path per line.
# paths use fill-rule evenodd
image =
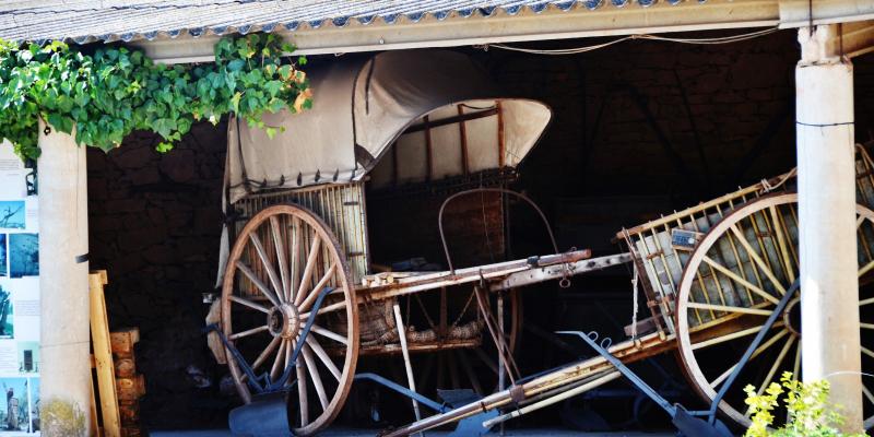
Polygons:
M118 418L116 376L109 341L109 323L106 317L106 302L103 294L103 286L106 283L106 271L98 271L88 275L91 338L94 347L94 367L97 373L97 392L101 397L104 435L107 437L120 437L121 425Z

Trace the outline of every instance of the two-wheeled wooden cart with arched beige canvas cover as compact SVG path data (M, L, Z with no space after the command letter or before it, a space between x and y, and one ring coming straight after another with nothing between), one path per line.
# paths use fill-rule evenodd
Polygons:
M267 120L287 134L267 138L235 121L228 130L234 244L222 281L221 330L240 397L250 402L259 391L290 391L293 430L310 435L340 412L362 355L444 354L436 364L423 359L420 389L472 387L487 394L504 378L512 383L521 304L511 288L566 281L628 257L586 261L587 250L554 248L551 256L457 269L447 251L447 271L373 273L375 247L383 257L395 253L385 250L388 241L370 244L367 217L376 209L379 223L400 218L412 232L380 235L433 252L439 245L422 236L438 227L435 205L471 187L491 187L466 196L471 211L446 220L456 231L446 238L468 261L474 258L458 246L472 247L459 241L459 235L470 238L469 227L486 227L487 245L503 248L509 192L503 187L545 129L550 109L499 97L470 59L445 51L352 57L314 68L310 78L311 111ZM414 190L427 201L408 196ZM403 196L369 196L386 191ZM427 222L411 223L423 209ZM442 221L439 228L442 238Z

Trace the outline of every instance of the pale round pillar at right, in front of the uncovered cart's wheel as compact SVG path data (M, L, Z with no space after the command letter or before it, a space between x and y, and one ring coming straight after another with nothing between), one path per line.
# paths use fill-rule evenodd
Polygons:
M855 241L853 68L830 54L835 26L799 32L795 68L802 365L828 379L845 432L862 430Z

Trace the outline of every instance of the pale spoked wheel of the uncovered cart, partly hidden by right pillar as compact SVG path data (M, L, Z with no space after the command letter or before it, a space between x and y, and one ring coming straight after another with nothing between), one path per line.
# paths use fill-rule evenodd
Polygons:
M874 248L869 246L874 241L874 212L858 205L857 213L862 276L874 267ZM689 382L705 401L716 398L798 279L798 194L763 197L725 215L684 260L676 302L678 353ZM862 370L867 373L874 369L871 288L860 286ZM795 294L719 405L741 426L751 424L745 386L754 386L761 394L768 385L779 382L783 371L798 378L803 370L800 291ZM874 422L874 395L864 385L863 390L867 428ZM775 416L786 418L784 412Z

